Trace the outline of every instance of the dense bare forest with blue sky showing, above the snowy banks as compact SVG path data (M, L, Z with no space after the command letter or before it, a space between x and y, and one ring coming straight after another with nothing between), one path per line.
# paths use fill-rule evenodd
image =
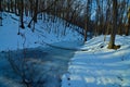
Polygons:
M80 32L87 40L87 33L91 33L93 36L110 34L115 20L117 21L116 33L129 35L127 15L130 1L117 1L114 3L113 0L1 0L0 11L20 15L22 28L24 28L24 14L32 17L28 24L29 27L32 22L37 22L38 14L42 20L44 20L43 13L53 15L52 20L61 17L83 28ZM69 26L68 23L66 26Z

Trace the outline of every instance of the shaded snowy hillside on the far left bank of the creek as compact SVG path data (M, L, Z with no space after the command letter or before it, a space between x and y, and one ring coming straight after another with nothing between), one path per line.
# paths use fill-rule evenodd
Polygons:
M57 18L57 21L53 23L47 14L46 21L38 20L34 33L31 32L31 28L27 27L27 24L31 20L30 17L24 17L24 29L18 27L20 17L15 14L4 12L2 13L2 17L3 26L0 26L0 51L36 48L43 46L43 42L74 42L76 40L81 40L82 38L77 32L75 32L75 28L77 27L65 27L63 25L63 20L61 18ZM20 35L17 35L18 29ZM72 47L72 45L69 47Z

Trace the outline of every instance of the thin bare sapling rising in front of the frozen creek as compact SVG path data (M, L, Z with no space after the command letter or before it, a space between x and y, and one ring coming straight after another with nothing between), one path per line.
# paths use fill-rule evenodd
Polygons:
M13 69L14 73L21 77L21 83L25 87L41 87L44 85L44 79L39 75L39 71L36 71L35 62L29 61L27 55L27 49L25 48L26 37L23 34L24 42L23 50L8 51L8 61ZM35 58L35 57L34 57Z

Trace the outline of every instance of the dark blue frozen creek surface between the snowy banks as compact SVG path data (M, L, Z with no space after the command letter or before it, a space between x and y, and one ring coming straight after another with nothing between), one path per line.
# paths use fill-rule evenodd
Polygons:
M0 87L26 87L22 84L22 77L13 71L6 58L11 58L23 70L26 79L32 80L34 87L61 87L62 75L67 72L69 59L76 50L65 50L52 47L38 47L10 53L0 53ZM25 59L23 59L25 58ZM24 61L24 63L23 63Z

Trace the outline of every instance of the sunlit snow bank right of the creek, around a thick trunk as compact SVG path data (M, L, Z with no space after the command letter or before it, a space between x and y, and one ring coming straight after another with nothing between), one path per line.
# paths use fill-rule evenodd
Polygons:
M117 36L118 50L107 49L109 36L94 37L77 51L62 87L130 87L130 36Z

